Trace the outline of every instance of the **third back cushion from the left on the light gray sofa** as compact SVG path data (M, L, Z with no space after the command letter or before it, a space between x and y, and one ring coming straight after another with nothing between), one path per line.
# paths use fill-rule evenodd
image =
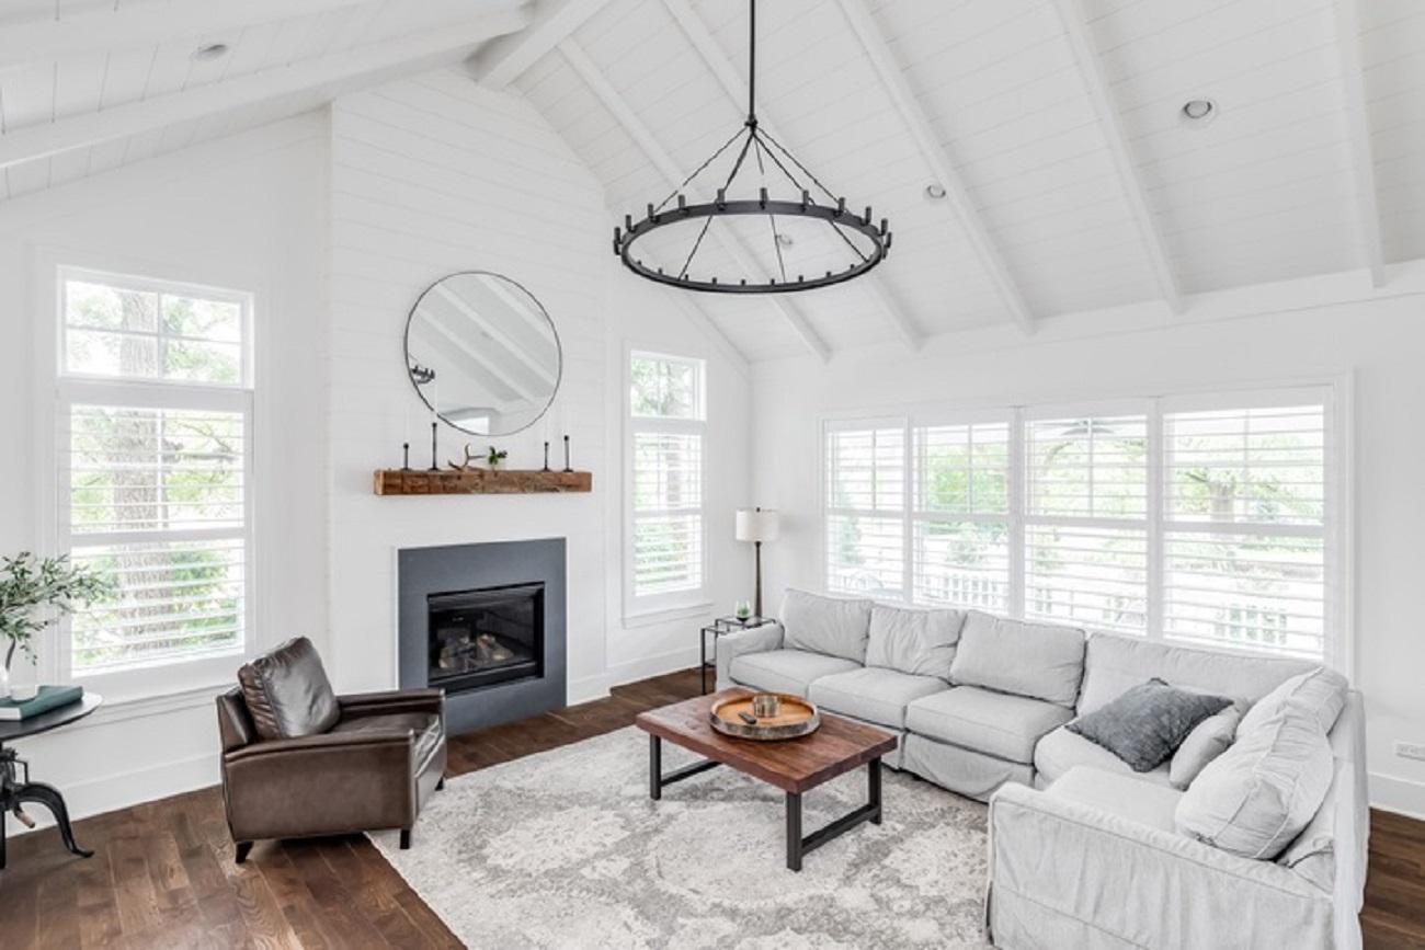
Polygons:
M969 611L950 662L950 682L1073 708L1083 679L1084 634ZM1131 685L1131 684L1130 684Z

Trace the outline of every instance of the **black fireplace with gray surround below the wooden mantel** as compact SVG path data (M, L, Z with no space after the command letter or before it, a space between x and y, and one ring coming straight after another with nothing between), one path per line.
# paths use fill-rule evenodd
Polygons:
M564 538L396 553L402 688L446 692L450 735L564 705Z

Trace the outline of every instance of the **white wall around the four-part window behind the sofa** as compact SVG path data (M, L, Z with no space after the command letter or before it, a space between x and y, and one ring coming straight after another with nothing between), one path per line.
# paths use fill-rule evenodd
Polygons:
M1224 320L1156 308L1050 320L1036 338L1005 332L939 338L922 353L884 348L829 366L794 359L754 373L754 487L784 511L784 537L767 547L771 587L817 590L818 426L825 414L908 404L1019 404L1196 392L1288 380L1355 380L1355 667L1365 692L1372 800L1425 815L1425 763L1394 755L1396 739L1425 742L1425 296L1421 275L1392 286L1409 295L1321 305L1344 281L1237 295L1284 312ZM1352 285L1354 286L1354 285ZM1226 296L1226 295L1224 295ZM1260 299L1258 299L1260 298ZM1255 301L1255 302L1254 302ZM1285 303L1291 301L1291 303ZM1214 310L1214 302L1201 308ZM1228 306L1216 308L1223 312Z

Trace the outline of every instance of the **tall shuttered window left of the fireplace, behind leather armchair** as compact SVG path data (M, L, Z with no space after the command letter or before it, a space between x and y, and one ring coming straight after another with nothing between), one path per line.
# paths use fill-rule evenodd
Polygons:
M60 544L115 595L63 672L241 651L251 611L251 298L63 271Z

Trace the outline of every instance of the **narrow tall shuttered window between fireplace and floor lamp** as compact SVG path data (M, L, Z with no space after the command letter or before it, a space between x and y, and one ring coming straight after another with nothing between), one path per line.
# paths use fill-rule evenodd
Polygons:
M704 595L704 365L634 352L628 360L630 614Z

